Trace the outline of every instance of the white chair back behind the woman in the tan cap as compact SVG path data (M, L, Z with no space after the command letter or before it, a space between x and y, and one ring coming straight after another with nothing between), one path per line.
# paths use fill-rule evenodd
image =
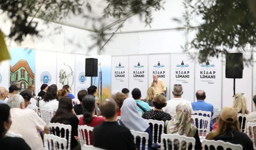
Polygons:
M208 149L210 149L210 146L214 146L214 148L217 150L218 146L222 146L224 150L226 150L227 148L230 148L231 150L243 150L243 147L240 144L232 144L230 142L223 142L222 140L203 140L202 141L202 147L203 150L205 150L205 146L208 147Z

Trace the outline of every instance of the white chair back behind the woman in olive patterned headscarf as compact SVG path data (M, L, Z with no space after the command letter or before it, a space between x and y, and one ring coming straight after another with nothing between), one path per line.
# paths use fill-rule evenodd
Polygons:
M181 136L179 134L162 134L161 135L161 150L164 150L164 140L168 145L168 140L172 141L172 149L174 150L174 140L178 140L180 145L182 141L186 142L186 150L188 150L188 144L192 144L192 150L195 150L196 140L194 137ZM181 150L181 149L180 149Z

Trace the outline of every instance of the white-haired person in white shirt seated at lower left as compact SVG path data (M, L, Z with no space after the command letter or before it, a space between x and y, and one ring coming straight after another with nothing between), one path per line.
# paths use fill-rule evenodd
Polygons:
M24 109L24 99L21 95L10 96L7 104L11 108L12 116L12 126L9 131L20 134L32 150L43 150L44 146L38 129L43 131L43 135L48 134L46 123L34 110Z

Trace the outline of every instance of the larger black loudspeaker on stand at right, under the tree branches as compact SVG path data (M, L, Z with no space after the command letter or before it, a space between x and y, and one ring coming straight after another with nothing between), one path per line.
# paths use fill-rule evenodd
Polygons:
M243 78L243 53L226 54L226 78Z

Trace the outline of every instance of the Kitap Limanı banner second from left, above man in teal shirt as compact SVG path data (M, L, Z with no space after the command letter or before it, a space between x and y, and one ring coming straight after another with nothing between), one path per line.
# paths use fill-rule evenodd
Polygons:
M138 88L141 98L145 99L148 87L148 55L129 56L129 96L132 97L132 90Z

